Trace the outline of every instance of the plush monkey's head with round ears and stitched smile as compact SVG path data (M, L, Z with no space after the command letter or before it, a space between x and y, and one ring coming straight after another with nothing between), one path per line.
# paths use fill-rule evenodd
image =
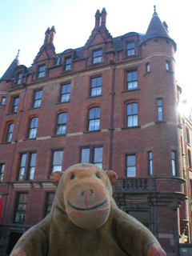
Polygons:
M117 180L114 171L104 172L92 164L78 164L64 173L54 172L50 180L58 186L54 201L75 225L93 230L106 222L110 214L111 185Z

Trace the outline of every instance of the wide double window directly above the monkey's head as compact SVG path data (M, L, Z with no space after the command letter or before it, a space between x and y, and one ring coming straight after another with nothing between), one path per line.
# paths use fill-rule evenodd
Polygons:
M102 146L82 148L80 162L93 163L102 168Z

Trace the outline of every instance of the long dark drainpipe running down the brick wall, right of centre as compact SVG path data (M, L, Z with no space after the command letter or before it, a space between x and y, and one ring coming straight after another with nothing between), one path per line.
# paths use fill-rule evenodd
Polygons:
M109 170L111 170L112 162L112 146L113 146L113 133L114 133L114 72L115 72L115 62L110 61L112 70L112 86L110 93L110 160L109 160Z

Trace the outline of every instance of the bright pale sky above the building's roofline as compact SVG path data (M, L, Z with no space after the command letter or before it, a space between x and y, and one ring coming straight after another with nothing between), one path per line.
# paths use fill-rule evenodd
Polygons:
M145 34L154 5L177 43L176 80L182 87L182 99L192 106L190 0L0 0L0 77L18 49L21 64L31 65L44 42L47 27L55 26L54 46L60 53L85 45L94 29L96 10L106 7L106 27L116 37L130 31Z

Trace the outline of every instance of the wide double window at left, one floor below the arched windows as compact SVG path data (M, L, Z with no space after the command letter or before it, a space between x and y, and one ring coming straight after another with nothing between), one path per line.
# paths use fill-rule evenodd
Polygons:
M18 181L33 180L37 153L21 154Z

